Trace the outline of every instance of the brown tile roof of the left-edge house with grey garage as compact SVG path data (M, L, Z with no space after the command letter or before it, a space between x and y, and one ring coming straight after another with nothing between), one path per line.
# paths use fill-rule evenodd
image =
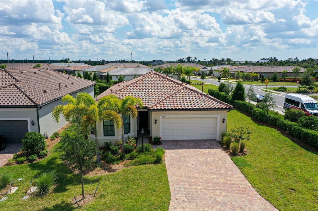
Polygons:
M96 84L41 67L4 69L0 76L5 79L0 85L0 106L38 106Z

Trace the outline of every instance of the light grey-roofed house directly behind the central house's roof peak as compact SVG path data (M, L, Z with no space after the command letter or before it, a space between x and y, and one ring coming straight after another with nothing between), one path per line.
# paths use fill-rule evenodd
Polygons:
M124 79L127 81L133 79L135 76L140 76L149 73L152 70L154 70L154 67L118 67L110 69L107 72L112 77L112 80L118 80L118 76L122 75ZM103 75L104 80L106 79L107 72L101 74ZM169 77L177 79L178 75L170 74Z

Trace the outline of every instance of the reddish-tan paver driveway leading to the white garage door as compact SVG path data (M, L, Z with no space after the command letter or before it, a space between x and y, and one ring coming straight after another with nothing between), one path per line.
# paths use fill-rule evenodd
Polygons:
M169 210L277 210L214 140L163 141Z

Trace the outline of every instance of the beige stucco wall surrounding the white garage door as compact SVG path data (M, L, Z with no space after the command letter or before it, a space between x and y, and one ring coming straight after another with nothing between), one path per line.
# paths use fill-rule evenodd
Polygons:
M219 135L217 136L217 140L219 140L221 132L226 130L226 122L227 122L227 111L158 111L158 112L150 112L151 119L150 123L152 123L152 127L150 130L150 136L160 136L160 116L169 116L169 115L191 115L192 117L195 115L217 115L219 116ZM225 122L223 123L223 118L225 118ZM155 124L155 119L157 119L157 124Z

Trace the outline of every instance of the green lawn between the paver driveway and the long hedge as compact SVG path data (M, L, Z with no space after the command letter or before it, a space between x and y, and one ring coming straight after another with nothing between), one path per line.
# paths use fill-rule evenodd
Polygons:
M228 129L242 123L252 130L248 154L232 160L256 191L279 210L318 210L317 153L239 111L228 113Z

